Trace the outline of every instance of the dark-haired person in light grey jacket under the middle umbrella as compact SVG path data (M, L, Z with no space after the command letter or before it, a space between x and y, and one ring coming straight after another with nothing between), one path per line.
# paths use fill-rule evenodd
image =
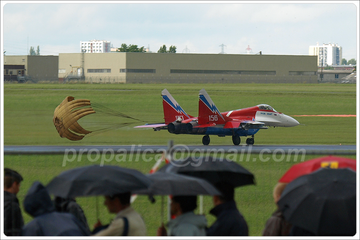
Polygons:
M157 236L205 236L206 218L194 214L197 196L174 196L171 200L171 215L176 218L157 230Z

